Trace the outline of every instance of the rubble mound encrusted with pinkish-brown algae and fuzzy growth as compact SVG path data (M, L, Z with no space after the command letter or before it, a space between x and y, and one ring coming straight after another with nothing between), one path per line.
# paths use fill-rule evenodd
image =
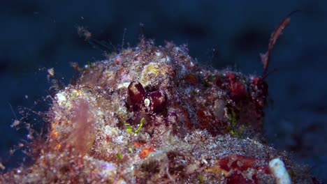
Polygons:
M34 162L1 183L275 183L276 158L292 183L317 182L261 143L261 76L203 68L185 45L144 38L75 68L74 84L50 97L45 140L27 147Z

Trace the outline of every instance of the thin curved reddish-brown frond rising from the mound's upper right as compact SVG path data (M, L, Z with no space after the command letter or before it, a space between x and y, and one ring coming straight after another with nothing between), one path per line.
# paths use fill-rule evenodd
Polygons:
M276 40L279 38L279 36L282 34L282 31L286 28L286 26L289 25L289 23L291 22L291 15L293 15L294 13L297 13L300 10L294 10L291 13L289 13L289 15L287 15L282 22L280 22L277 26L277 28L275 29L275 31L273 31L273 33L270 36L270 40L269 40L269 45L268 45L268 51L265 54L260 54L261 56L261 61L263 63L263 74L262 74L262 78L266 78L270 73L275 72L275 70L273 70L272 72L268 72L268 66L269 66L269 62L270 62L270 55L271 52L273 50L273 47L276 43Z

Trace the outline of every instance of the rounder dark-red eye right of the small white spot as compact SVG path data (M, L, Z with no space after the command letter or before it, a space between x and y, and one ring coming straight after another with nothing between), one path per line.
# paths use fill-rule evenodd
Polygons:
M167 97L163 91L154 91L147 94L147 98L150 100L150 110L154 113L160 113L167 105Z

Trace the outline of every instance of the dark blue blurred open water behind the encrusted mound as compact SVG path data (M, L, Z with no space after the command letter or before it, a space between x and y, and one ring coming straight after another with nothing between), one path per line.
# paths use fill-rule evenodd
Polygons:
M146 38L186 43L204 66L261 75L259 53L279 22L298 9L272 52L270 70L278 70L267 78L264 130L268 145L294 153L326 182L327 1L1 1L1 162L27 139L26 130L10 128L22 116L18 107L48 107L34 105L49 95L48 68L68 84L71 62L84 66L105 59L103 52L135 46L143 23ZM100 44L80 38L78 26ZM37 116L29 121L42 124Z

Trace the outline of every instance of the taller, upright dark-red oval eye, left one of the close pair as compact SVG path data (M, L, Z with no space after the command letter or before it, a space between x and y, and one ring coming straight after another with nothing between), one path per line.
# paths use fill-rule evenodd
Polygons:
M145 98L145 89L140 82L131 82L127 88L127 102L134 112L136 112Z

